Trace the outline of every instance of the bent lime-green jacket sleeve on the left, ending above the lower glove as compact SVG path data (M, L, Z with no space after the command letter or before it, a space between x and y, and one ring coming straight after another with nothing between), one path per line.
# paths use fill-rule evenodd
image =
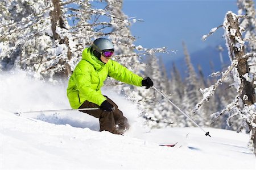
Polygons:
M101 93L98 93L96 90L91 88L91 77L89 71L81 71L81 69L82 68L78 67L75 75L76 86L79 90L79 94L89 102L96 103L100 106L106 98Z

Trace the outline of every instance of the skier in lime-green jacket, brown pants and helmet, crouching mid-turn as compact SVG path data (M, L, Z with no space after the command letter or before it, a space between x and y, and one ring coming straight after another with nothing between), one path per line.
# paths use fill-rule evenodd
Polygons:
M100 131L123 134L129 129L127 118L110 98L101 94L106 77L135 86L146 86L147 89L153 86L153 82L149 77L138 76L111 60L113 53L114 45L105 38L96 39L92 46L85 48L82 60L69 78L67 96L72 109L100 108L83 111L99 119Z

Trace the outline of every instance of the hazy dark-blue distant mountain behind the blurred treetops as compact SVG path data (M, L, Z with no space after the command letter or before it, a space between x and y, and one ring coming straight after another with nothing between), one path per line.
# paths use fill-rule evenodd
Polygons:
M224 65L230 64L228 50L226 49L225 44L221 44L221 46L224 49L224 51L222 51L222 59L224 61ZM218 51L217 45L215 47L208 46L199 51L189 53L189 55L191 56L191 61L195 67L196 72L198 72L197 65L200 65L205 77L209 76L209 74L212 72L221 71L220 51ZM181 76L187 76L187 73L185 72L187 71L187 67L184 55L175 61L169 61L166 64L166 67L169 68L168 70L172 68L172 63L175 63L176 67L180 71Z

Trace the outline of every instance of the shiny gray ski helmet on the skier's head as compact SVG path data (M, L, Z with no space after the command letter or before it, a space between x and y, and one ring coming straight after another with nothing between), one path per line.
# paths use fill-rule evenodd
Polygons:
M102 53L105 49L114 49L114 45L110 42L109 39L106 38L98 38L94 40L92 47L96 49L96 51Z

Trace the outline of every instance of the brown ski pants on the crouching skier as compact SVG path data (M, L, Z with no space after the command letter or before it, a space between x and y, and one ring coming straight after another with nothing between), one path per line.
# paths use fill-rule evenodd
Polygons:
M103 110L84 110L82 112L96 117L100 121L100 131L109 131L113 134L123 134L126 130L129 129L129 123L126 117L123 116L122 111L118 109L118 106L107 96L107 101L114 106L113 111L103 111ZM99 108L95 103L85 101L79 107L82 108Z

